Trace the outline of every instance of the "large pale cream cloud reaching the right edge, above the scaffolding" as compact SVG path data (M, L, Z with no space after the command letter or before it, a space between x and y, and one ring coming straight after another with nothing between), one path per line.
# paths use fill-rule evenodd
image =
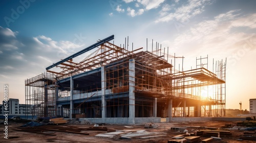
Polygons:
M256 47L256 43L252 42L256 34L236 31L239 28L255 29L256 14L240 16L236 12L238 10L232 10L219 14L212 20L199 22L195 27L176 37L173 47L184 50L189 46L187 49L193 50L195 55L222 51L226 57L242 49L248 42L251 47Z

